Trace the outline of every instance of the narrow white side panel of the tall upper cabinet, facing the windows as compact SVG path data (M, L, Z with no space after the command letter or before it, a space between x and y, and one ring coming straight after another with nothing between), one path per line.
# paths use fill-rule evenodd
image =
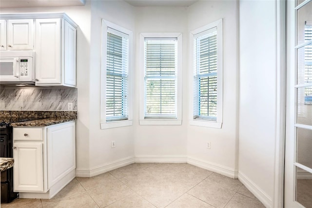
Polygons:
M76 28L64 21L64 84L76 86Z

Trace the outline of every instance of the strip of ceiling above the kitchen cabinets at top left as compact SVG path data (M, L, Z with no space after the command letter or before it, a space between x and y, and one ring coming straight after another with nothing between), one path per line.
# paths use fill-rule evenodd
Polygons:
M0 8L83 6L85 0L1 0Z

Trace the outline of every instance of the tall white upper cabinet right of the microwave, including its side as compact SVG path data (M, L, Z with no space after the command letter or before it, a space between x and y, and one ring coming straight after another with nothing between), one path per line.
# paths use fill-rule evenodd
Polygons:
M61 18L37 19L35 50L36 86L76 86L74 26Z

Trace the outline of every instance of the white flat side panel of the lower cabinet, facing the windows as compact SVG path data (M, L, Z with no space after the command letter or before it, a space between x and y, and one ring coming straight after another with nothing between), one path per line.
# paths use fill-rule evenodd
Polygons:
M48 189L76 168L75 122L47 128Z

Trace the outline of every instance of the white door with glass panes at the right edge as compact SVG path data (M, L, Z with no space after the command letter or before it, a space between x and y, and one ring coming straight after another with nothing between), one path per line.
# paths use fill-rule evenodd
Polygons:
M312 0L287 1L285 208L312 207Z

